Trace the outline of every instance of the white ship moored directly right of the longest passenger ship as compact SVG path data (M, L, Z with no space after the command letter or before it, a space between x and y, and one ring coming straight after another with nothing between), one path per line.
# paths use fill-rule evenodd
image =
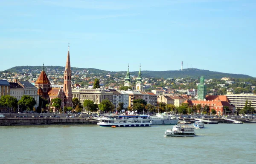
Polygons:
M175 125L179 119L175 116L169 116L166 114L157 113L155 116L151 116L152 125Z

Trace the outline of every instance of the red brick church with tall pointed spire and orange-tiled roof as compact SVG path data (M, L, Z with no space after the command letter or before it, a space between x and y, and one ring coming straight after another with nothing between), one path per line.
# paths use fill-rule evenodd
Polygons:
M51 87L51 83L47 78L43 65L43 70L35 82L35 86L38 88L38 95L47 99L48 102L51 102L53 98L60 98L62 102L64 102L64 106L72 107L71 76L70 52L68 46L63 87Z

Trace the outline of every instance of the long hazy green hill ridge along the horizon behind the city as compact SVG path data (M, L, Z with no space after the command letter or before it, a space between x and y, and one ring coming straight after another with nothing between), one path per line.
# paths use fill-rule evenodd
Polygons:
M64 72L63 66L45 66L44 69L49 72L49 74L52 73L61 73ZM72 67L72 72L74 74L80 74L79 72L83 72L83 74L89 74L88 76L92 75L115 75L116 77L124 77L126 72L125 71L119 71L119 72L111 72L111 71L105 71L101 69L93 69L93 68L77 68ZM42 66L15 66L11 69L7 69L4 72L17 72L17 73L39 73L42 70ZM50 70L50 71L49 71ZM230 73L222 73L222 72L214 72L209 70L203 70L203 69L183 69L176 70L176 71L141 71L143 77L145 78L193 78L197 79L200 76L204 76L206 79L210 78L216 78L220 79L223 77L227 78L253 78L249 75L242 75L242 74L230 74ZM130 72L131 75L137 76L138 71Z

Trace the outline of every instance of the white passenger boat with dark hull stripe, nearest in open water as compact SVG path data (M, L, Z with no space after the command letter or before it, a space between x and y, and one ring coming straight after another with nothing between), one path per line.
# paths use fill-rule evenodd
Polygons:
M172 129L166 129L166 136L192 137L195 136L195 128L191 125L174 125Z

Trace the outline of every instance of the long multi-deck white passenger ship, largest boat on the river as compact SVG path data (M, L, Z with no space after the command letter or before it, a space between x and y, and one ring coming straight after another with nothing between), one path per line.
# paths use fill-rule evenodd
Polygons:
M108 127L146 127L152 123L149 115L102 115L97 124Z

